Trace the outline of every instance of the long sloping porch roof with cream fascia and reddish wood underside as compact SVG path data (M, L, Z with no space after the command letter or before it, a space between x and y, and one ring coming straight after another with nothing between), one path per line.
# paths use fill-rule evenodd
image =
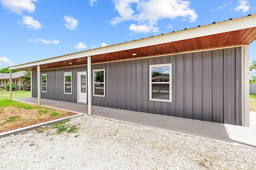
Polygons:
M185 28L172 33L11 66L9 69L36 71L38 65L40 65L40 70L81 66L87 64L88 56L91 57L92 64L98 64L190 53L249 45L254 39L256 39L256 15L250 14L234 20L230 18L229 20L218 23L213 22L209 25L198 25L198 27Z

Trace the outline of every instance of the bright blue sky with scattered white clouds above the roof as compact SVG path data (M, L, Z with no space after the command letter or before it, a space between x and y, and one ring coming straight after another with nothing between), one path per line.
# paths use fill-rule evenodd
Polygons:
M0 69L248 14L256 0L0 0Z

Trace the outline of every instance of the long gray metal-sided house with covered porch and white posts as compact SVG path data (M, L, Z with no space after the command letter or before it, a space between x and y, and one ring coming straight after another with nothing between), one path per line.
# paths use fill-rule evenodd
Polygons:
M32 71L38 104L44 98L86 103L89 115L94 105L248 127L255 38L256 15L249 15L9 69ZM164 81L153 81L154 72Z

